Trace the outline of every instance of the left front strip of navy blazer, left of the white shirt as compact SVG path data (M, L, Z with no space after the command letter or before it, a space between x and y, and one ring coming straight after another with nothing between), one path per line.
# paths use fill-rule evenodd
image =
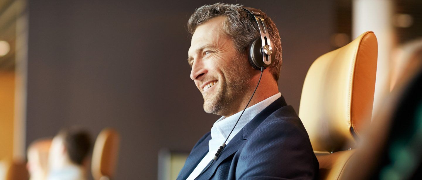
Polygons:
M180 170L179 178L177 180L185 180L192 171L196 168L199 162L209 151L208 141L211 140L211 134L208 135L197 147L192 149L192 153L189 154L185 161L184 167Z

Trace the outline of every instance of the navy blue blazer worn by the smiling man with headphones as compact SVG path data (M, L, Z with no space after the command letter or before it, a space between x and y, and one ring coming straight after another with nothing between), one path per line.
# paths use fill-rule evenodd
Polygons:
M193 147L177 180L186 180L208 153L211 132ZM254 117L227 144L199 180L312 180L318 160L308 133L283 96Z

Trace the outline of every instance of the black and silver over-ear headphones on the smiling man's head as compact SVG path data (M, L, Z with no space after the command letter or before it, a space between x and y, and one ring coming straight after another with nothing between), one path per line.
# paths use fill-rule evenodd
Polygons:
M271 65L273 48L271 47L270 34L268 34L267 26L265 25L264 17L260 13L260 10L255 8L242 7L247 12L254 16L255 21L258 24L261 37L258 37L249 48L249 63L252 67L260 70L261 67L266 69Z

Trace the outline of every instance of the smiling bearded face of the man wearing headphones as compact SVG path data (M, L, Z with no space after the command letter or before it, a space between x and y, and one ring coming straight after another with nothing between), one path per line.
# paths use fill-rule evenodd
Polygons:
M207 113L226 115L237 110L252 78L246 55L240 55L233 41L222 31L225 17L201 24L189 48L190 77L204 98Z

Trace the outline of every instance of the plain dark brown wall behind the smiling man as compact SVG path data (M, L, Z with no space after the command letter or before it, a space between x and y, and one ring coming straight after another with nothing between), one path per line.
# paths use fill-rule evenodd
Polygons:
M157 179L160 148L189 151L219 118L202 109L189 78L186 23L216 1L29 2L27 145L79 125L114 127L122 142L116 179ZM284 65L279 89L298 110L306 71L332 50L332 0L225 0L276 22Z

